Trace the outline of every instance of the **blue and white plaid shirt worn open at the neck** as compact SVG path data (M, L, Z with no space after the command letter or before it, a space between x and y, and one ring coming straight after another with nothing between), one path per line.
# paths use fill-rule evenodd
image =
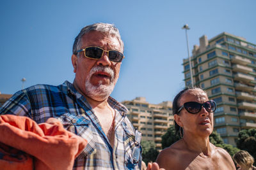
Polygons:
M58 118L68 131L88 141L74 169L140 169L141 156L138 164L133 160L132 151L138 145L134 127L126 117L127 108L112 97L108 103L116 111L113 148L86 98L68 81L57 87L35 85L20 90L0 108L0 115L26 116L38 124Z

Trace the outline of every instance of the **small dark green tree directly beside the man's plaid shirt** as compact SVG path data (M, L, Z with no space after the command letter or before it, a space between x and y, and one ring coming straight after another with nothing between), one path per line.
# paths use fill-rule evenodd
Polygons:
M142 147L142 160L147 165L148 162L155 162L158 151L156 150L156 144L153 141L141 141Z

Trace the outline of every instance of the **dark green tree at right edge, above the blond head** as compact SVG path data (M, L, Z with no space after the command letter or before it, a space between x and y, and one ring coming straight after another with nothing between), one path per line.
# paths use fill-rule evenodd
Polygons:
M256 158L256 129L244 129L240 131L236 145L237 148L246 150L253 158Z

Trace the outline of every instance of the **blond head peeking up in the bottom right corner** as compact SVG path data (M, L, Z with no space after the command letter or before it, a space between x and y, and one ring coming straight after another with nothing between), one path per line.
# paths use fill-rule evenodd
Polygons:
M239 152L233 155L233 159L236 162L239 170L255 170L256 167L252 166L254 159L250 153L245 150L240 150Z

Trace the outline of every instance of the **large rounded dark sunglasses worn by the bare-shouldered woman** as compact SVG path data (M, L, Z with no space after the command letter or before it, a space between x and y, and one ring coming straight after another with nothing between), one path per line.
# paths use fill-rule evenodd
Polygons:
M204 107L205 110L208 112L214 112L216 110L216 103L215 101L207 101L201 104L195 101L189 101L187 103L184 103L183 106L179 108L177 113L179 113L182 110L182 108L185 108L186 111L188 111L189 113L195 114L201 111L202 107Z

